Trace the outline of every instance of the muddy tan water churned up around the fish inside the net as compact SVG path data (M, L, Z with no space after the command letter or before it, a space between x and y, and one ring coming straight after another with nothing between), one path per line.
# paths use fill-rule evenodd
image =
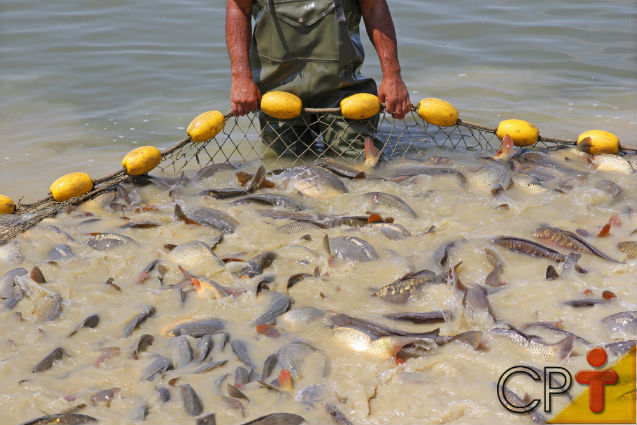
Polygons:
M566 162L567 153L554 153L554 158L569 167L582 171L582 177L569 179L571 189L565 193L547 190L533 194L514 185L511 189L492 196L477 180L475 171L485 163L468 153L431 151L422 160L433 165L429 156L445 156L446 164L461 171L468 179L463 184L453 175L418 176L401 182L383 180L345 180L349 192L325 200L311 199L286 188L283 179L272 177L277 186L259 192L280 192L303 203L313 214L366 214L373 210L383 217L393 217L411 233L403 240L390 240L382 233L367 229L356 230L337 227L297 234L285 234L276 227L288 220L274 220L260 215L268 206L232 206L232 200L216 200L196 195L203 189L236 186L235 171L223 171L200 182L169 194L157 186L127 186L133 198L142 199L139 208L119 213L110 209L107 197L88 202L71 212L61 214L46 224L54 224L68 232L74 241L61 241L46 228L39 226L17 239L24 256L21 264L0 263L0 272L15 267L31 270L37 265L47 283L36 284L29 279L20 281L30 289L29 296L15 308L3 308L0 313L0 411L5 423L20 423L43 414L57 413L86 404L80 413L98 418L101 423L133 424L140 422L143 406L148 409L146 421L154 424L194 423L183 407L180 386L190 384L198 393L203 413L216 413L218 424L239 424L271 412L292 412L303 416L309 423L330 423L325 403L336 406L356 424L380 423L528 423L527 415L508 413L498 402L495 382L509 367L531 364L537 367L555 365L559 360L544 360L528 353L506 340L496 338L490 329L494 322L486 315L471 316L464 313L461 300L447 285L427 286L407 304L390 304L371 296L374 289L386 285L407 272L430 269L440 270L434 260L436 250L450 242L456 244L449 252L449 264L457 264L458 274L465 284L484 284L492 270L484 249L495 251L504 264L503 280L506 285L488 296L495 315L516 327L535 321L559 321L564 329L574 332L592 344L635 338L635 335L611 335L600 324L600 319L619 311L637 309L634 284L637 262L611 263L584 254L579 264L586 274L573 270L561 271L561 266L550 260L516 254L494 245L495 236L508 235L533 239L534 230L541 224L550 224L566 230L584 229L596 235L612 215L617 215L621 226L613 226L610 236L589 238L602 252L624 260L625 255L616 248L618 242L634 240L630 235L637 226L635 174L595 171L584 159ZM245 166L244 171L254 173L258 164ZM378 174L385 171L379 170ZM612 195L595 189L602 179L611 179L624 192ZM365 193L383 191L400 196L417 213L411 217L404 211L379 207L369 202ZM172 195L172 196L171 196ZM175 203L186 213L197 206L217 208L234 217L239 225L232 234L214 248L220 257L250 259L267 250L277 258L254 278L237 278L230 274L241 264L227 263L220 267L212 262L190 264L188 271L201 277L214 279L221 285L235 289L237 296L216 299L212 292L198 294L189 285L183 286L185 299L174 285L183 280L178 264L164 247L193 240L210 243L219 231L205 226L185 224L173 216ZM143 208L141 206L144 206ZM92 220L98 218L98 221ZM87 221L89 220L89 221ZM150 229L120 229L129 221L149 221L161 224ZM433 230L431 230L433 226ZM114 231L129 236L136 244L126 244L108 251L95 250L85 243L91 232ZM309 233L310 238L301 238ZM358 236L369 242L379 259L372 262L339 262L329 259L322 238ZM48 263L50 249L59 243L68 244L75 256L57 264ZM563 249L559 249L565 252ZM137 283L144 267L159 259L167 268L163 283L157 269L142 283ZM562 276L546 281L545 271L553 264ZM441 346L419 358L397 364L389 356L376 356L357 352L336 339L333 331L322 320L308 324L290 323L279 319L277 338L259 334L253 320L265 312L271 294L255 295L257 283L264 276L272 276L271 291L286 292L288 278L296 273L314 273L318 267L320 278L307 278L289 289L292 308L312 306L321 310L347 313L402 330L426 332L436 327L441 335L455 335L468 330L483 331L481 346L474 350L467 344L456 342ZM112 277L119 287L105 284ZM245 291L244 291L245 290ZM585 291L592 295L585 295ZM566 300L601 297L603 290L613 291L617 298L590 308L563 305ZM59 294L63 302L61 315L52 321L42 321L47 300ZM155 314L144 321L128 337L124 328L147 306L155 307ZM415 325L391 322L383 314L392 312L426 312L452 310L455 319L441 324ZM82 328L75 335L67 335L86 317L98 314L100 322L94 329ZM285 344L301 339L316 351L307 356L302 376L294 382L291 391L276 392L257 382L246 384L242 391L249 401L241 400L242 408L231 408L217 392L215 380L229 373L221 387L228 396L226 383L234 384L235 370L243 366L233 353L230 343L222 346L222 335L214 336L214 348L209 359L227 360L224 366L206 373L188 373L193 366L175 368L154 377L141 379L142 370L155 355L171 357L172 338L161 331L180 320L219 318L225 322L230 340L243 340L256 371L263 370L265 359ZM133 343L142 334L154 337L152 346L130 358ZM549 342L564 336L538 332ZM194 347L195 341L189 337ZM64 359L42 372L32 373L33 367L55 347L68 353ZM119 348L119 354L106 359L100 355L110 347ZM572 355L564 361L571 371L587 368L587 347L576 343ZM246 367L246 369L249 369ZM280 366L264 381L272 383L280 373ZM178 378L176 381L173 380ZM320 385L320 397L300 400L302 390ZM111 400L91 402L97 391L120 388ZM170 391L171 399L162 402L158 387ZM525 392L541 394L541 386L531 380L513 379L511 388L519 395ZM581 387L574 389L579 391ZM558 411L566 398L555 399ZM233 402L235 407L236 402ZM143 416L143 415L141 415Z

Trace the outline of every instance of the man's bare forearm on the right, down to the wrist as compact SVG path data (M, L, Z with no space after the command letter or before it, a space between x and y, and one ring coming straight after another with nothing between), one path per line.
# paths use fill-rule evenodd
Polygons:
M396 30L385 0L360 0L369 39L374 44L385 77L400 75Z

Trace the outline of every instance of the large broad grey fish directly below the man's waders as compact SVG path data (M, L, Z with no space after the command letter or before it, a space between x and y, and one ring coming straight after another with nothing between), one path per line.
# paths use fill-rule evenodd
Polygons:
M336 174L321 167L287 168L281 176L290 179L294 190L310 198L331 199L349 192Z

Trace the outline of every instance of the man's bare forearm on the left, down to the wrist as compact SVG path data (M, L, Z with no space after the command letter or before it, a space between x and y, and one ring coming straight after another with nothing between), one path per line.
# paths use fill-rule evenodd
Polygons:
M226 8L226 45L230 56L232 78L252 79L250 69L250 39L252 1L228 0Z

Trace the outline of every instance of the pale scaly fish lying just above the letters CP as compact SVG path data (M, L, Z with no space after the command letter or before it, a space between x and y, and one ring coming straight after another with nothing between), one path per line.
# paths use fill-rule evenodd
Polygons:
M550 362L564 361L573 350L574 336L567 336L555 344L548 344L536 335L526 335L517 329L493 328L489 335L513 342L524 351Z

